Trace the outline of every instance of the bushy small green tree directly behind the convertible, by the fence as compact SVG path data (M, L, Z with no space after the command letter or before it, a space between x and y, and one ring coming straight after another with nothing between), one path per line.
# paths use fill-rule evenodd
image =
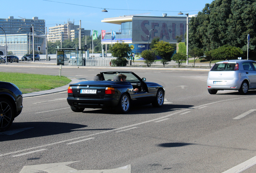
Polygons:
M112 56L117 57L116 60L111 62L116 66L126 66L128 60L126 58L132 53L129 44L124 42L116 42L112 47L109 48Z

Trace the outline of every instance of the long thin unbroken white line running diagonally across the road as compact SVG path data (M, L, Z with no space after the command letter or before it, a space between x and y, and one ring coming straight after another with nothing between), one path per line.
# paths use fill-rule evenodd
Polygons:
M78 139L83 139L83 138L88 138L88 137L92 137L92 136L96 136L96 135L101 135L101 134L109 133L109 132L112 132L112 131L118 131L118 130L121 130L121 129L126 129L126 128L129 128L129 127L134 127L134 126L138 126L138 125L150 123L150 122L153 122L153 121L158 121L158 120L160 120L160 119L165 119L165 118L171 117L171 116L173 116L173 115L180 114L180 113L183 113L183 112L185 112L185 111L188 111L188 110L190 110L190 109L195 109L195 108L203 107L203 106L206 106L206 105L212 105L212 104L215 104L215 103L221 103L221 102L224 102L224 101L231 101L231 100L237 100L237 99L244 99L244 98L247 99L247 98L250 98L250 97L256 97L256 96L239 97L239 98L235 98L235 99L227 99L227 100L222 100L222 101L216 101L216 102L212 102L212 103L207 103L207 104L204 104L204 105L200 105L200 106L196 106L196 107L191 107L191 108L188 108L188 109L184 109L184 110L182 110L182 111L178 111L178 112L175 112L175 113L171 113L171 114L169 114L169 115L165 115L165 116L159 117L159 118L157 118L157 119L151 119L151 120L149 120L149 121L144 121L144 122L141 122L141 123L137 123L137 124L133 124L133 125L128 125L128 126L125 126L125 127L120 127L120 128L118 128L118 129L112 129L112 130L103 131L103 132L99 132L99 133L94 133L94 134L91 134L91 135L81 136L81 137L77 137L77 138L73 138L73 139L67 139L67 140L64 140L64 141L56 142L56 143L50 143L50 144L41 145L41 146L37 146L37 147L33 147L33 148L23 149L23 150L19 150L19 151L13 151L13 152L10 152L10 153L4 153L4 154L1 154L0 157L6 156L6 155L15 154L15 153L21 153L21 152L29 151L29 150L32 150L32 149L43 148L43 147L47 147L47 146L51 146L51 145L57 145L57 144L65 143L65 142L68 142L68 141L74 141L74 140L78 140Z

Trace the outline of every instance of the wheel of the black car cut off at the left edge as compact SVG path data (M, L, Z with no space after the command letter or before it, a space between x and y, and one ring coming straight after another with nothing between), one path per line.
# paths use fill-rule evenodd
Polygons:
M0 131L6 131L14 119L14 108L10 101L0 98Z

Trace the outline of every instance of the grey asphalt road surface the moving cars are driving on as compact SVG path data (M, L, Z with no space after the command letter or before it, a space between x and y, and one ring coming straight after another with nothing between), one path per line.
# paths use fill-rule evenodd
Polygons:
M101 70L109 69L63 68L62 75L92 80ZM51 67L0 71L59 74ZM74 113L66 92L24 98L21 115L0 135L0 172L256 172L256 91L210 95L206 71L132 71L165 87L163 107Z

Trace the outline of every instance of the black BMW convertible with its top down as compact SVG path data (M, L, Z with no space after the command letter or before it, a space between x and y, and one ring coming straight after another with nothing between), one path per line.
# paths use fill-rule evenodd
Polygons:
M120 75L126 75L121 81ZM70 84L68 104L74 112L83 112L85 108L115 108L127 113L131 105L152 104L162 107L165 89L153 82L146 82L130 71L102 71L91 81Z

